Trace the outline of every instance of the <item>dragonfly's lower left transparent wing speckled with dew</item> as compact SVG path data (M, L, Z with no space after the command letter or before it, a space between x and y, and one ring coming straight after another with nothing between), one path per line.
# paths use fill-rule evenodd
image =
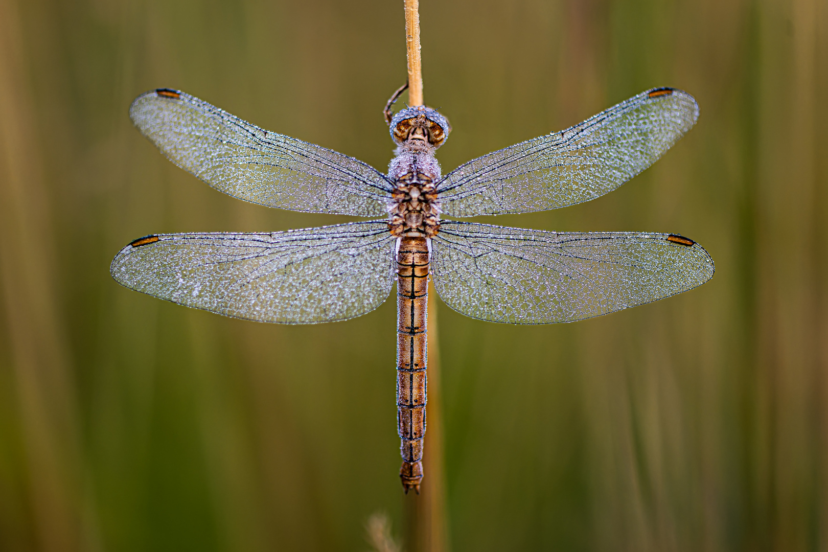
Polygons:
M161 234L114 258L132 290L233 318L312 324L377 308L391 293L388 223L274 233Z

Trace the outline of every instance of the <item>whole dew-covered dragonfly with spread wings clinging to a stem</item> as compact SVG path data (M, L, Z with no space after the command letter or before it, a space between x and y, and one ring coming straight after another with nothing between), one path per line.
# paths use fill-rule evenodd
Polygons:
M387 107L397 146L387 173L180 90L142 94L129 113L170 161L225 194L372 218L286 232L152 234L123 247L111 274L179 305L278 324L366 314L396 281L405 492L419 493L423 478L430 280L446 305L474 319L551 324L676 295L715 271L703 247L676 233L548 232L455 220L558 209L615 190L696 123L698 104L679 89L649 89L446 175L435 152L451 126L424 105L393 115Z

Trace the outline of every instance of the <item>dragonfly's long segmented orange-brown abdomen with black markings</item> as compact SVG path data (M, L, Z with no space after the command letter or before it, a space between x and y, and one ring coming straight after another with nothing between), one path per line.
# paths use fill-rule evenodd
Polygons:
M422 441L426 434L426 316L428 243L403 236L397 250L397 433L400 478L406 492L420 492Z

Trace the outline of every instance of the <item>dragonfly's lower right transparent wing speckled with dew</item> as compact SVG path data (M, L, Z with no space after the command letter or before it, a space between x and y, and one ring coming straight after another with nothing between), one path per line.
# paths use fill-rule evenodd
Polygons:
M472 318L572 322L643 305L713 276L696 242L662 233L554 233L443 221L432 238L440 298Z

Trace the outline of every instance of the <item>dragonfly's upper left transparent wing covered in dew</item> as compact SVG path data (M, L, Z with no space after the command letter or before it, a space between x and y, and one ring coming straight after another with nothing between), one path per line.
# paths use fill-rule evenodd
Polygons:
M129 115L170 161L238 199L314 213L387 214L391 185L372 166L263 130L190 94L147 92Z

